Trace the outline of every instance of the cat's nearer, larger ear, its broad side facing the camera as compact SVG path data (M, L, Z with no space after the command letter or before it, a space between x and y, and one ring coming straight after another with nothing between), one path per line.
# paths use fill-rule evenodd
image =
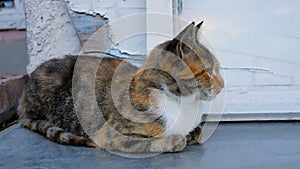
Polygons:
M192 45L196 40L195 22L192 22L185 29L183 29L175 39L188 46Z

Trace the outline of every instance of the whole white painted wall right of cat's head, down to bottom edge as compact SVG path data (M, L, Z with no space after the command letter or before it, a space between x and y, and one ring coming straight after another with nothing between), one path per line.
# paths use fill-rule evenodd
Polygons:
M225 120L300 119L299 9L297 0L182 1L179 17L205 20L200 39L221 61Z

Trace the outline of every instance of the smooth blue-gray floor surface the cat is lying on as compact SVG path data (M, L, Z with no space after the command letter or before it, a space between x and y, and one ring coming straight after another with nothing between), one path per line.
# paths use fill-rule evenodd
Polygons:
M140 159L59 145L13 126L0 133L0 168L299 169L300 123L220 124L202 145Z

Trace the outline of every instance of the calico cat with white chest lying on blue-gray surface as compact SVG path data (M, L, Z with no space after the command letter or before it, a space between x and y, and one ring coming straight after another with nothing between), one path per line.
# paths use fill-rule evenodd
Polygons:
M104 54L44 62L30 74L21 96L21 125L60 144L126 153L179 152L199 144L199 105L224 87L219 61L197 40L202 23L192 22L156 46L139 68ZM76 66L79 62L82 66ZM95 79L74 75L95 68ZM91 79L100 116L85 111L89 106L76 115L82 104L74 97L93 98L88 87L74 86L82 80L89 85Z

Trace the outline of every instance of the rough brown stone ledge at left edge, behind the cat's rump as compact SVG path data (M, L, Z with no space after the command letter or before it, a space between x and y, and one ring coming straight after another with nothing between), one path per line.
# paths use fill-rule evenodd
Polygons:
M26 75L0 75L0 126L14 117Z

